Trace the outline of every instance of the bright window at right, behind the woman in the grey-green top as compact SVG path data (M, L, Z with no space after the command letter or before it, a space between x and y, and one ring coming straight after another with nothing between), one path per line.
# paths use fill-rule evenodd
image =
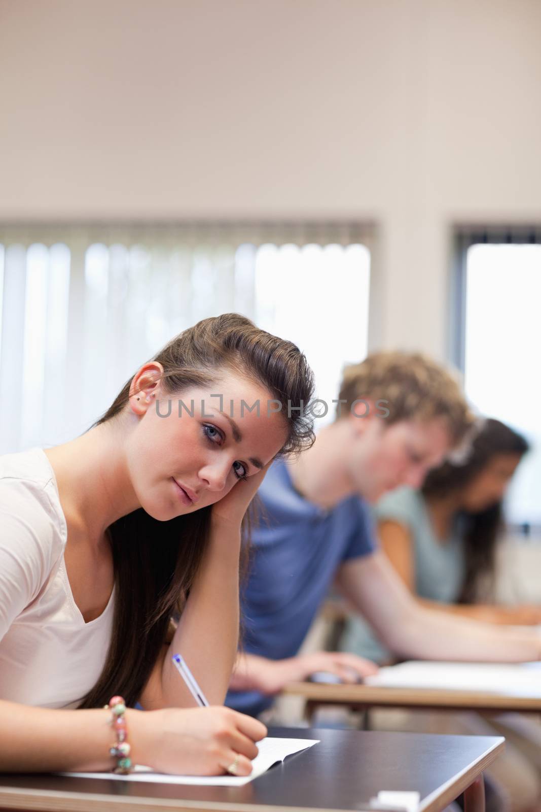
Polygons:
M535 232L462 235L461 257L457 351L466 395L479 412L508 423L530 442L506 513L513 524L539 528L541 244Z

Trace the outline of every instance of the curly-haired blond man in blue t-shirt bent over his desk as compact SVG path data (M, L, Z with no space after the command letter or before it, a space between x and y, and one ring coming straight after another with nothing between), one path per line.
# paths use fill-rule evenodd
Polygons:
M284 685L314 672L348 681L373 672L354 654L298 656L332 584L407 658L541 658L541 635L533 629L419 605L376 550L367 503L401 485L421 486L472 421L456 380L425 356L378 352L346 369L337 419L296 460L273 464L260 488L260 525L243 589L243 653L227 704L258 715Z

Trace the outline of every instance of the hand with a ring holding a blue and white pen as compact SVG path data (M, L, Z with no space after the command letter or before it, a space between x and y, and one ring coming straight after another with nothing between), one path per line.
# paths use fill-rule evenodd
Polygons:
M158 772L176 775L250 775L264 724L225 707L127 711L132 757Z

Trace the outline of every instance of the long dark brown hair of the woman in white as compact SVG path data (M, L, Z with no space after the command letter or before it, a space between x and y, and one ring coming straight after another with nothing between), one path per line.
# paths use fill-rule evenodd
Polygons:
M161 387L180 393L213 383L228 369L263 385L281 404L288 436L281 455L313 443L305 407L314 382L307 360L290 341L259 330L237 313L207 318L184 330L154 356L164 368ZM131 379L94 425L126 407ZM288 404L291 407L288 409ZM96 685L79 704L103 706L114 693L133 706L167 640L171 618L182 611L208 543L211 507L158 521L140 508L110 525L116 603L109 652Z

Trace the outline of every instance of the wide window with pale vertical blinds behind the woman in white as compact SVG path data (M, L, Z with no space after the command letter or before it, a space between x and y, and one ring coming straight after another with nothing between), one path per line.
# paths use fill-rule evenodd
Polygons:
M367 229L185 224L0 229L0 453L88 429L123 382L201 318L291 339L333 417L367 352Z

